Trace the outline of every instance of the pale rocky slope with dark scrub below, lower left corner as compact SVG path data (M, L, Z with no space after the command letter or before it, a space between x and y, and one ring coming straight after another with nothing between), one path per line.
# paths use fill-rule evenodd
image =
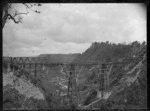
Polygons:
M47 109L43 90L32 84L26 76L19 78L14 73L3 73L3 109Z

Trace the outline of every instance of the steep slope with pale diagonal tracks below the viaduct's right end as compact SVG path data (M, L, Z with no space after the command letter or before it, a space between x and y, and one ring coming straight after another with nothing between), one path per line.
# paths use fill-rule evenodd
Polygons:
M147 54L146 46L134 52L136 61L113 67L109 75L108 90L101 97L98 90L98 76L92 74L86 79L88 87L83 87L82 108L146 109L147 108ZM133 57L134 58L134 57ZM127 58L130 59L130 58ZM122 60L123 62L126 59ZM85 81L85 82L86 82ZM91 82L94 84L90 84ZM89 93L90 92L90 93ZM96 104L95 104L96 103Z

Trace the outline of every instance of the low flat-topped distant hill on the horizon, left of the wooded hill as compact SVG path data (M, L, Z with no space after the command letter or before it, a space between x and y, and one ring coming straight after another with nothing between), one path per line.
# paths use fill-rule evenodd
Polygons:
M70 63L74 61L75 58L77 58L80 55L80 53L74 53L74 54L40 54L38 57L44 57L47 62L63 62L63 63Z

